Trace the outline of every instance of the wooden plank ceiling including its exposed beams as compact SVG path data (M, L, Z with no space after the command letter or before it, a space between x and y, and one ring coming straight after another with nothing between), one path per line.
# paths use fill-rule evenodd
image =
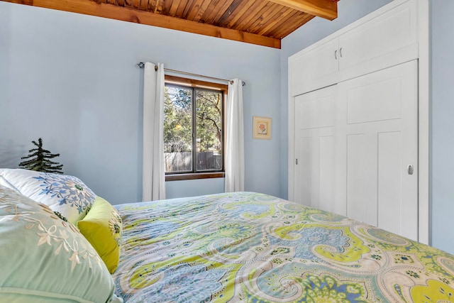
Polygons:
M315 16L337 18L338 0L0 0L280 48Z

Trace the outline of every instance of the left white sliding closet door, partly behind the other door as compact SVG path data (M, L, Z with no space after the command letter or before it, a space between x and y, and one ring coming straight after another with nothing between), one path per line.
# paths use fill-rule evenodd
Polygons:
M294 201L333 211L336 86L296 97L294 114Z

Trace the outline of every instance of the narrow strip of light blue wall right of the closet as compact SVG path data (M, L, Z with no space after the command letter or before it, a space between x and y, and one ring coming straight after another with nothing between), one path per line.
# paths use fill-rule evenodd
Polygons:
M454 1L431 1L432 245L454 254Z

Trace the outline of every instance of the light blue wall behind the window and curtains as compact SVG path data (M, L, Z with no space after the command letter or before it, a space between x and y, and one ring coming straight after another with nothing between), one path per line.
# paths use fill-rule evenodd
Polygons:
M139 61L243 79L245 189L279 195L279 136L252 139L253 116L270 116L281 133L279 50L3 1L0 167L17 167L30 142L43 137L65 173L101 197L140 201ZM223 179L167 182L168 197L212 192L223 192Z

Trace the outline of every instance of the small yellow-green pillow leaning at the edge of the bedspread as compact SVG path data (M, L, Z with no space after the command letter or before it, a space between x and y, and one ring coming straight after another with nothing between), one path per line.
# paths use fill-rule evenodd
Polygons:
M122 221L118 211L109 202L96 197L87 216L77 222L80 232L114 273L120 258Z

